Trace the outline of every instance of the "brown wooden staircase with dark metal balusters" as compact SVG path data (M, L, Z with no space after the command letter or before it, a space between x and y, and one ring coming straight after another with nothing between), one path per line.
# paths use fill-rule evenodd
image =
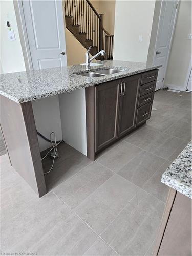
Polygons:
M88 0L64 0L64 13L66 28L77 38L77 40L95 55L104 49L105 56L99 59L113 59L113 38L103 28L103 14L98 14Z

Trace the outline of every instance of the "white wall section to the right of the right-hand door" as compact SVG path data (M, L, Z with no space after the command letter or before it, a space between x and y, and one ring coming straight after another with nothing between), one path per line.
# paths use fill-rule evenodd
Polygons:
M173 44L167 66L165 84L178 90L185 90L186 76L191 59L191 1L180 1Z

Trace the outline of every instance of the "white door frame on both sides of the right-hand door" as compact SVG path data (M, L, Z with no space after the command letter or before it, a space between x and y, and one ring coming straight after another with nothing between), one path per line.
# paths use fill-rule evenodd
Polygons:
M156 1L159 1L159 0L156 0ZM167 0L167 1L168 1L168 0ZM167 59L166 59L166 63L165 63L164 78L165 78L166 72L167 72L168 60L169 60L169 56L170 56L170 50L172 49L173 37L174 37L174 32L175 32L175 27L176 27L176 21L177 21L179 6L180 6L180 0L174 0L174 1L175 1L176 12L175 12L175 17L174 17L173 29L172 29L172 32L171 32L171 35L170 35L170 42L169 42L169 47L168 47ZM159 26L160 26L160 17L161 17L161 11L162 11L162 3L163 3L163 0L161 0L161 7L160 7L160 12L159 12L159 20L158 20L157 34L156 34L156 39L155 39L155 47L154 47L153 60L152 60L153 65L154 65L155 57L156 57L157 37L158 37ZM152 26L153 26L153 25L152 25ZM165 79L164 79L164 81L163 81L163 86L164 86L164 82L165 82ZM163 88L163 86L162 86L162 88Z

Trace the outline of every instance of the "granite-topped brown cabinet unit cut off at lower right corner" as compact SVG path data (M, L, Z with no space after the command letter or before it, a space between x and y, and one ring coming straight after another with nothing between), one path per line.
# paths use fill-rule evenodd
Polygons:
M191 255L192 143L170 164L161 182L170 187L155 256Z

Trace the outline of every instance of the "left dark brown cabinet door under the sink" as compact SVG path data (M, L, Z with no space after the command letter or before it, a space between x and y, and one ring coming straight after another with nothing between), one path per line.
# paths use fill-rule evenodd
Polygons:
M96 152L117 138L119 83L121 79L96 86Z

